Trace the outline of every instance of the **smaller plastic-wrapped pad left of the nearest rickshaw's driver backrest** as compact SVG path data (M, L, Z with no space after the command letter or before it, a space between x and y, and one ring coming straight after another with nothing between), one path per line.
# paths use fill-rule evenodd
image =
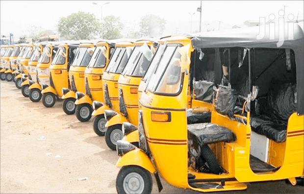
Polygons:
M205 102L212 102L213 82L199 80L193 82L193 88L196 94L196 99Z

